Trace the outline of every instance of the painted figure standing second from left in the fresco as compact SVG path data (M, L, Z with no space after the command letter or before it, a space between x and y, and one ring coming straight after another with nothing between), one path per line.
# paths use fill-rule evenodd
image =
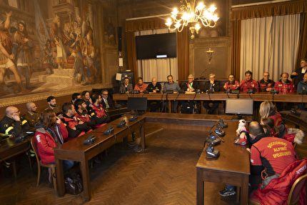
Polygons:
M23 74L26 77L26 88L30 86L31 62L34 59L35 45L34 41L26 31L26 22L19 21L19 29L13 34L13 51L16 58L16 66L19 76ZM23 72L24 70L24 72Z

